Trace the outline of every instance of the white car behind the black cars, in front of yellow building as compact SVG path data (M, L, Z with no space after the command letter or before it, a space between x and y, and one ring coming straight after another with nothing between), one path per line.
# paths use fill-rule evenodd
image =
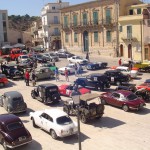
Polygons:
M129 75L131 78L136 78L138 75L137 70L129 70L129 68L125 66L119 66L116 69L120 70L123 74Z

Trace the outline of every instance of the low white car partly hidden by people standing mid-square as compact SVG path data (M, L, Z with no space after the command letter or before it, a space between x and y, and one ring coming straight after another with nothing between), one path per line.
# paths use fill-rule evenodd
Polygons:
M68 70L68 74L74 74L75 73L75 64L71 63L71 64L68 64L66 67L59 68L58 69L59 73L64 74L65 68ZM82 66L80 66L80 70L83 71Z

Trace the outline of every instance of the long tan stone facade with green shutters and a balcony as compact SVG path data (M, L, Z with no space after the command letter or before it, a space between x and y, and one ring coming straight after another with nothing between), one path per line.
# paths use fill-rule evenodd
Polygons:
M62 47L69 51L116 54L115 1L92 1L61 9Z

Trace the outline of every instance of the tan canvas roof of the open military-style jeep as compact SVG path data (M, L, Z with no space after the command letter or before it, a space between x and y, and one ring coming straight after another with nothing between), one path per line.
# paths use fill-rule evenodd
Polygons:
M99 97L100 95L97 94L97 93L86 93L86 94L83 94L83 95L80 95L80 100L82 101L90 101L94 98L97 98Z

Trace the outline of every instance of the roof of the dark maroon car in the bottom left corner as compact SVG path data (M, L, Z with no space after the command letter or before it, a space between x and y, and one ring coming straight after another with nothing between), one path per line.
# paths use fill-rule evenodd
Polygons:
M21 121L19 117L14 114L2 114L0 115L0 122L2 124L9 124L11 122Z

